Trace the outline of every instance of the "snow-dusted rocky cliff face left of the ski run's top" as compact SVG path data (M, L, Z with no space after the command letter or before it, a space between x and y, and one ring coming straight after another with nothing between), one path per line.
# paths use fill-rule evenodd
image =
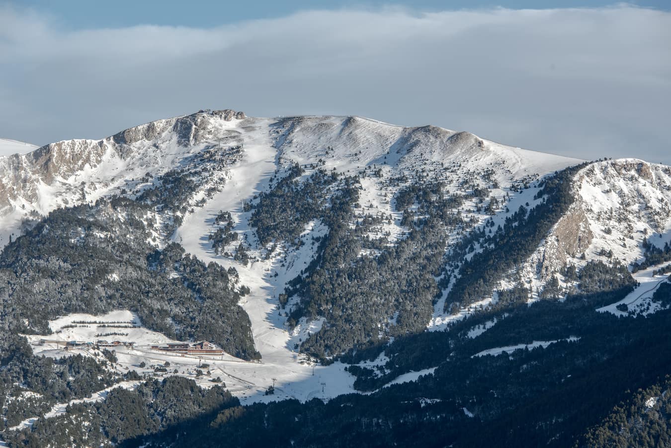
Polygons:
M102 140L64 140L28 154L0 156L0 244L19 231L21 220L134 189L142 179L146 184L146 175L176 169L189 157L207 155L213 146L240 144L232 121L242 118L230 109L193 114Z

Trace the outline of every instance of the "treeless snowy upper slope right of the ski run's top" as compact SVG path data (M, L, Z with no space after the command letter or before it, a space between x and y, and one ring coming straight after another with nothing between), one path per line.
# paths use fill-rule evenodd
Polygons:
M544 175L580 163L554 154L490 142L468 132L435 126L403 128L360 117L297 117L274 124L283 156L299 163L325 160L325 168L350 172L372 165L396 171L423 169L429 178L450 177L442 165L462 164L460 171L492 167L505 182Z

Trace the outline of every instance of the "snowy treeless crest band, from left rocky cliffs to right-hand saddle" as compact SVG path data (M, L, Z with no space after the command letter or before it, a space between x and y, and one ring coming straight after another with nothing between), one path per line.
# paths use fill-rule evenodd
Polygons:
M274 169L291 162L316 164L321 159L325 167L342 173L379 166L389 175L415 175L422 170L427 180L444 180L450 178L446 167L453 165L449 171L456 185L458 171L491 167L500 191L511 181L532 179L577 162L434 126L403 128L359 117L243 118L244 114L230 109L202 111L136 126L102 140L65 140L28 154L1 156L3 228L15 232L21 218L30 214L44 215L54 208L133 189L146 174L161 175L191 163L190 157L205 150L254 139L264 139L266 146L274 148ZM6 241L3 238L0 243Z

